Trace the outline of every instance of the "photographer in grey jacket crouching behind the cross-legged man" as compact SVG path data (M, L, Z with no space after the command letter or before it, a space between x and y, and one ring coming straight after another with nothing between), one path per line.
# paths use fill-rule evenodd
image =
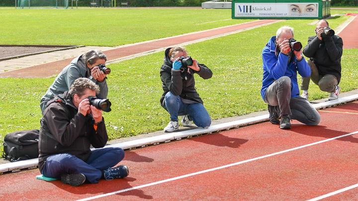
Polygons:
M87 77L96 83L100 88L99 98L107 98L108 87L106 76L110 69L105 67L107 57L98 50L90 50L84 55L75 58L70 65L62 69L57 75L55 81L42 96L40 108L42 114L46 109L46 104L55 95L59 95L68 91L75 79L79 77Z

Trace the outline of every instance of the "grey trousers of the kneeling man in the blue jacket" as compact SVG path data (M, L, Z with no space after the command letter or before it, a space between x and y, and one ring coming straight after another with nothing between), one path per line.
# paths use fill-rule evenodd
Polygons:
M280 117L289 115L308 126L317 126L321 121L321 116L307 99L300 96L291 98L291 79L287 76L275 80L266 89L265 102L276 106Z

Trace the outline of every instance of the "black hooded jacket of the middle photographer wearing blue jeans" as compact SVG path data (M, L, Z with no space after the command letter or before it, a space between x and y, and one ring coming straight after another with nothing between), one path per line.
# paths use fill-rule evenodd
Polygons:
M179 95L183 99L203 104L203 101L195 89L194 73L197 73L204 79L209 79L212 76L212 71L205 65L199 63L197 63L198 67L200 67L199 71L192 70L191 68L188 68L189 72L187 70L181 70L182 68L180 68L180 70L172 69L173 62L168 55L170 49L171 48L168 48L165 51L164 64L160 69L162 87L164 90L160 99L162 107L167 110L164 99L169 91L176 96Z

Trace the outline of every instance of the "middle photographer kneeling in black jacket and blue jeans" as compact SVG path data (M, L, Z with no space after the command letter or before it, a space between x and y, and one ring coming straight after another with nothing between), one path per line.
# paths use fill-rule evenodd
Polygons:
M165 51L164 64L160 69L164 90L160 102L170 114L165 132L179 129L178 116L183 116L182 126L190 126L191 121L202 128L211 124L210 116L195 89L194 73L204 79L212 76L211 70L188 57L183 47L168 48Z

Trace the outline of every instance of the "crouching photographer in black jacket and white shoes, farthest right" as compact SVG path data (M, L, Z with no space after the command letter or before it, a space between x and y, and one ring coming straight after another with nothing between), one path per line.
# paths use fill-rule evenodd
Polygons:
M310 58L307 64L311 67L311 75L302 77L301 97L308 99L310 79L319 86L321 91L330 92L328 100L338 99L341 87L341 57L343 53L343 40L336 36L329 27L327 20L317 23L316 36L308 38L303 55Z

